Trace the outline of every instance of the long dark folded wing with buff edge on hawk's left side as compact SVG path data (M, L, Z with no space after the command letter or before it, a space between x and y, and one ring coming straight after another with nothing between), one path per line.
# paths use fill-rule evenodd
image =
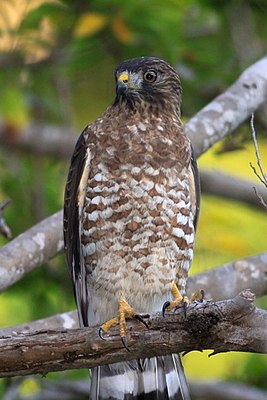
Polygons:
M87 127L75 146L64 199L65 254L71 272L81 326L88 326L87 277L81 250L82 206L90 168L90 151L86 144L88 133Z

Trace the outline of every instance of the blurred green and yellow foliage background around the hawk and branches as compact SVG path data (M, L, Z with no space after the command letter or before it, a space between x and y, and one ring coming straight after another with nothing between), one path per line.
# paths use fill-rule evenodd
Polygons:
M11 133L42 121L70 126L75 134L112 101L118 63L156 55L179 71L186 121L266 52L266 17L263 0L2 0L0 117ZM244 41L244 32L249 40ZM256 129L266 160L266 126L260 116ZM256 164L246 123L199 164L253 181L249 161ZM62 207L67 169L68 161L1 145L0 199L12 199L5 217L14 236ZM266 231L266 213L260 208L203 195L192 273L266 250ZM0 244L5 243L1 238ZM74 307L61 255L0 294L0 326ZM184 363L189 378L237 379L266 387L266 360L260 355L208 358L207 352L193 352ZM77 372L49 376L76 377ZM35 381L26 382L25 398L38 390ZM0 396L8 385L0 382Z

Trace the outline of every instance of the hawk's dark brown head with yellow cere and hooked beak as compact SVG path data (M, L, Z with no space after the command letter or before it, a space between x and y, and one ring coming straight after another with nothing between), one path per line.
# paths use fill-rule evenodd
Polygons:
M161 112L173 110L180 116L182 88L176 71L156 57L132 58L115 71L116 98L114 104L132 110L150 106Z

